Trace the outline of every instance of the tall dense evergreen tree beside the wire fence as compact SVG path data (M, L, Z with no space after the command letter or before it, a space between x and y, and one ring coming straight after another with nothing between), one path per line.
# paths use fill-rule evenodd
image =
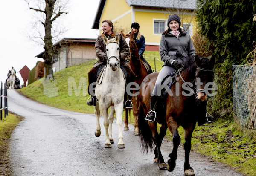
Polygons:
M218 94L211 101L211 112L222 118L233 117L232 64L244 64L256 41L256 0L198 0L198 26L213 43Z

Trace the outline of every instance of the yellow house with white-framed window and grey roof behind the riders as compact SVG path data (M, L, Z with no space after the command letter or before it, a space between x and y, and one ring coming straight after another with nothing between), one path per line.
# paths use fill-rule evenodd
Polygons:
M196 0L100 0L92 29L102 34L102 21L111 20L116 32L127 33L131 23L140 24L148 51L159 51L169 14L178 14L181 26L192 36Z

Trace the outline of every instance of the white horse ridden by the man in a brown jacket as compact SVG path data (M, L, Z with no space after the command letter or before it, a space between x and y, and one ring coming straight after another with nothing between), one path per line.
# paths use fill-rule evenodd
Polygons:
M95 95L98 99L96 106L94 106L94 113L97 121L95 136L99 137L101 134L99 125L99 115L101 110L106 131L105 148L111 148L111 144L114 143L112 138L112 123L116 112L116 124L119 130L117 147L125 148L122 136L122 111L125 94L125 79L120 68L119 36L116 35L115 38L110 40L104 36L104 42L106 43L108 64L102 74L102 78L100 78L102 81L99 81L95 87ZM108 117L109 107L111 107L111 110Z

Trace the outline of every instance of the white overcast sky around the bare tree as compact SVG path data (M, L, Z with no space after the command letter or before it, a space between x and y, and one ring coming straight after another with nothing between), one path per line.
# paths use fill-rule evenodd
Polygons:
M97 38L98 30L91 29L99 0L70 0L70 10L64 20L69 31L64 38ZM37 61L35 58L44 51L43 46L30 41L24 31L31 28L32 15L28 5L23 0L4 0L0 6L0 81L5 82L7 73L12 66L19 72L25 65L31 70ZM23 85L19 73L17 77Z

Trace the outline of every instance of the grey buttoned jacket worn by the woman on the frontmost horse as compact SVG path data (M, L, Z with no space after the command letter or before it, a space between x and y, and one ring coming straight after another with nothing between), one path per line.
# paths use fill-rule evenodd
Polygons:
M171 66L173 60L184 63L186 58L196 53L190 35L181 29L178 38L170 33L166 36L162 35L159 45L159 54L161 60L164 62L163 66Z

